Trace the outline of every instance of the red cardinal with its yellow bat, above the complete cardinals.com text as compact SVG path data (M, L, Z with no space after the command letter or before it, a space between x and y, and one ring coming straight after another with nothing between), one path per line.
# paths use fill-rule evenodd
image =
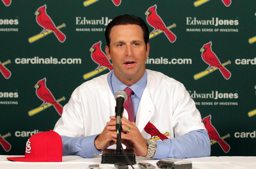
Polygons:
M35 42L36 40L39 40L52 32L60 42L65 42L66 36L59 29L65 27L66 25L63 23L56 27L49 15L46 13L46 5L39 7L36 10L35 15L37 24L41 26L43 30L39 34L29 38L29 43Z

